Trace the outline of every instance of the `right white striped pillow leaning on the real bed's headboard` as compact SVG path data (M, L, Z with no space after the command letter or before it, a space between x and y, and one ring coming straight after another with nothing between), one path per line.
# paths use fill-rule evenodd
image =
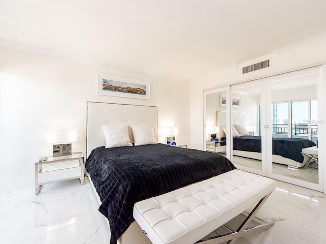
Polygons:
M131 126L135 146L157 144L151 126Z

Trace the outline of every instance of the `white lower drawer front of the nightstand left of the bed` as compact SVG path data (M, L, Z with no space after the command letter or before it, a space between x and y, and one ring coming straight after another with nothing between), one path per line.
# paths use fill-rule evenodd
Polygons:
M38 173L38 184L45 184L51 181L65 180L82 176L82 168L75 167L69 169L51 170Z

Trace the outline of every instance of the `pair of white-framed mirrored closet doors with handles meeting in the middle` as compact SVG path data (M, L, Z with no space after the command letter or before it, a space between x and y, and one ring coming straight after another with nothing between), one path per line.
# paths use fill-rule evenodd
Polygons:
M315 160L303 156L302 151L295 157L288 156L287 151L293 147L276 144L297 138L307 140L305 145L311 147L322 140L318 137L323 125L318 125L322 111L318 111L321 99L318 100L317 89L321 83L321 68L316 67L232 85L228 104L232 126L227 134L232 135L228 146L235 166L323 191L323 164L318 163L323 155L318 155L317 150ZM242 136L248 140L241 142ZM251 144L253 149L246 151L238 146L241 143ZM285 157L279 155L280 150Z

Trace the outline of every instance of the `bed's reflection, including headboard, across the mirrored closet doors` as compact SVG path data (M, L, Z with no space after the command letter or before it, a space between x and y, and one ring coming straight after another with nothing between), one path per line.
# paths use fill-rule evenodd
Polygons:
M250 136L244 127L244 113L233 113L233 155L255 160L261 160L261 137ZM219 137L225 138L226 134L226 113L218 111L216 114L219 125ZM316 144L308 139L301 138L273 138L274 163L285 164L295 167L303 167L309 161L306 155L302 154L302 148L315 146Z

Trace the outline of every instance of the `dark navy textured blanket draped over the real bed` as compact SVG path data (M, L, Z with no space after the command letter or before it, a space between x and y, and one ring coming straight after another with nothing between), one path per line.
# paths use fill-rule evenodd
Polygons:
M94 149L86 169L108 219L111 244L134 221L134 203L235 169L219 154L165 144Z

